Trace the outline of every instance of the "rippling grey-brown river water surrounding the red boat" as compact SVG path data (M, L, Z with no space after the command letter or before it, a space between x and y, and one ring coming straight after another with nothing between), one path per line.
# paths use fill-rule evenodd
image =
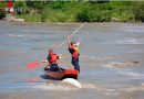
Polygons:
M80 25L0 22L1 99L143 99L143 23L86 23L79 30L72 40L82 38L78 79L82 88L41 78L47 64L25 69L29 63L44 59L48 48L56 47ZM56 53L63 56L60 66L73 68L66 43Z

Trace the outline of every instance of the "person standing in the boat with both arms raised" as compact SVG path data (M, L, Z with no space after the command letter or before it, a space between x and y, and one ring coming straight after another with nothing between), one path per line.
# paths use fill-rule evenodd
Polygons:
M72 59L71 63L74 66L74 69L80 72L80 65L79 65L79 56L80 56L80 50L79 50L79 45L80 45L80 41L81 38L79 38L79 41L75 42L71 42L70 40L68 41L69 44L69 52L72 55Z

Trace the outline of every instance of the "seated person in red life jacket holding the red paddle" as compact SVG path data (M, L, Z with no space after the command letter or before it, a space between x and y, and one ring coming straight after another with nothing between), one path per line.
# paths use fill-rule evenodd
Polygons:
M44 70L52 70L52 72L56 72L56 70L61 70L61 68L58 66L58 59L61 58L61 55L58 55L53 52L52 48L49 50L49 54L45 61L42 61L43 63L49 62L49 65L47 67L44 67Z

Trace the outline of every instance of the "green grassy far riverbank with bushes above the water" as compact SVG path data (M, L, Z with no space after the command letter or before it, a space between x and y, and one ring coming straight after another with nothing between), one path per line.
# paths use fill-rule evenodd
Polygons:
M25 22L144 22L144 1L17 1Z

